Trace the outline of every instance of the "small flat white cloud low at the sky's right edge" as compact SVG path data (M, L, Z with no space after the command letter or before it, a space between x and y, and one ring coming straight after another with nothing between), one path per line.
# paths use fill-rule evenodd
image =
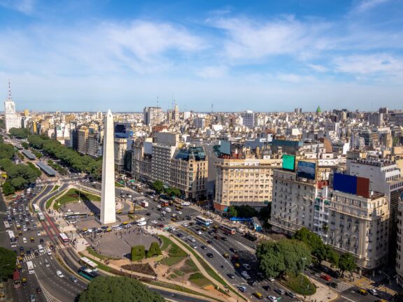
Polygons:
M355 73L360 75L373 75L383 73L396 75L403 71L402 58L388 54L351 55L337 57L333 61L336 71L341 73Z

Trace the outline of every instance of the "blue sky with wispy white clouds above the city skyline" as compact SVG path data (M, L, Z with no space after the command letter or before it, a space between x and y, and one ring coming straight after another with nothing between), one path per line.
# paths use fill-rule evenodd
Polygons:
M403 108L403 0L0 0L0 41L19 110Z

